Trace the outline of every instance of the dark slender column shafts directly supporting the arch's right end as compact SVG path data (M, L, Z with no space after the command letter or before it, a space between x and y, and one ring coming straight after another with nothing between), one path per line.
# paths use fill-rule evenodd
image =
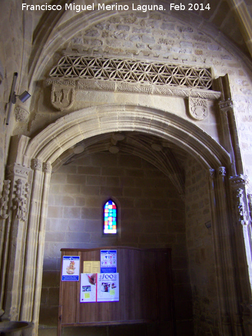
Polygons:
M243 335L241 307L235 277L235 258L232 252L232 216L225 167L210 171L212 229L214 238L220 329L222 335Z

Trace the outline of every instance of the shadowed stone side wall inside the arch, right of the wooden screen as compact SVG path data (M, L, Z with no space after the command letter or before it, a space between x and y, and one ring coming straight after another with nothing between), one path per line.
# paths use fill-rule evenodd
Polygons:
M218 295L206 171L194 159L186 170L186 238L195 335L218 335Z

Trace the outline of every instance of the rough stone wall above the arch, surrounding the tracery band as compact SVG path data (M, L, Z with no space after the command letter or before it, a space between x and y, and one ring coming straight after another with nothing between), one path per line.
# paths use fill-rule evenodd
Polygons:
M144 59L152 61L163 61L175 64L188 64L191 66L203 66L211 68L214 78L228 74L233 90L235 113L240 129L240 146L244 153L246 172L249 175L251 170L251 66L248 59L238 49L227 41L221 34L217 34L213 26L203 24L201 20L186 22L186 16L176 16L167 12L166 14L157 11L146 13L121 12L104 19L99 18L78 33L72 34L66 42L60 44L60 48L45 65L43 80L45 80L53 66L62 54L79 52L80 54L108 55L115 57L129 57L133 59ZM71 36L68 31L68 37ZM76 109L96 104L105 104L107 101L113 103L131 102L145 104L170 110L175 104L179 104L174 113L180 114L184 111L186 101L181 100L175 103L175 98L162 105L162 97L148 95L122 95L105 93L99 99L92 99L96 92L86 91L78 93L73 107L64 112L56 112L50 105L49 88L41 86L37 88L38 96L33 100L31 110L32 121L28 135L37 132L41 126L47 125L66 113ZM111 97L112 96L112 97ZM145 98L145 97L148 97ZM183 102L183 103L182 103ZM157 105L156 105L157 104ZM164 107L165 106L165 107ZM213 107L210 107L210 110ZM215 106L215 111L218 107ZM217 114L217 113L216 113ZM188 113L182 117L188 118ZM218 115L216 115L218 117ZM191 122L200 127L204 121ZM202 128L222 146L224 142L220 139L220 133L216 134L216 120L211 118L210 122Z

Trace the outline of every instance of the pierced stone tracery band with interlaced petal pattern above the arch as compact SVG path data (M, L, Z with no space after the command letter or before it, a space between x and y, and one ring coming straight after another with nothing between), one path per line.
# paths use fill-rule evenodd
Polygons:
M134 59L66 55L50 78L116 81L210 89L210 69Z

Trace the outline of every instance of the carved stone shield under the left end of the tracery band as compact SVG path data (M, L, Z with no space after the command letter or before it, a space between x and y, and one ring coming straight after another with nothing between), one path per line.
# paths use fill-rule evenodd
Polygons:
M57 110L68 110L74 102L74 87L53 85L51 103Z

